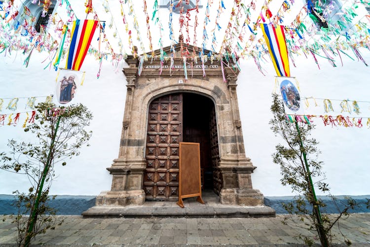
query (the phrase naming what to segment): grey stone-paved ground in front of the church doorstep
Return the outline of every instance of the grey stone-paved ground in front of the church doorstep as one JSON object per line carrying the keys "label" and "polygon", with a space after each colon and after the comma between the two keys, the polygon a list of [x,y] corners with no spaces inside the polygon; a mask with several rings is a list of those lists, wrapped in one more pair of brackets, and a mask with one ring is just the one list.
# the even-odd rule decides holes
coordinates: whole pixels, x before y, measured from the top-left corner
{"label": "grey stone-paved ground in front of the church doorstep", "polygon": [[[83,218],[64,219],[55,230],[38,236],[33,245],[45,246],[186,246],[251,245],[303,246],[295,236],[314,236],[302,229],[304,222],[283,225],[284,215],[276,218]],[[294,218],[297,220],[297,218]],[[370,246],[370,213],[351,214],[341,220],[340,231],[353,246]],[[336,245],[344,246],[338,226]],[[0,221],[0,246],[15,246],[16,228],[9,219]],[[316,239],[316,243],[319,241]]]}

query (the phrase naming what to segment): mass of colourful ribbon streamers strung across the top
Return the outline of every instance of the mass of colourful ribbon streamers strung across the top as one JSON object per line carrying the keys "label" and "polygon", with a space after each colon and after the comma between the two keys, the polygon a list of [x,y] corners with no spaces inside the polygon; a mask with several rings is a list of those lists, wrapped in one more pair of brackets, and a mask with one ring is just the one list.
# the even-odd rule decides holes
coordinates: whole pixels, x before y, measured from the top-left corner
{"label": "mass of colourful ribbon streamers strung across the top", "polygon": [[[21,50],[25,55],[26,59],[24,61],[25,66],[28,66],[30,62],[30,57],[35,51],[45,50],[49,52],[48,59],[50,60],[45,69],[52,65],[51,60],[56,58],[54,66],[59,66],[60,59],[66,58],[66,54],[69,54],[67,50],[69,49],[67,45],[73,41],[73,36],[71,36],[73,28],[68,23],[75,22],[78,20],[75,12],[72,8],[70,1],[68,0],[57,0],[56,8],[58,11],[65,11],[68,16],[68,20],[62,20],[57,12],[53,13],[49,18],[48,29],[41,27],[40,32],[36,32],[34,25],[37,20],[37,16],[33,16],[30,9],[23,4],[22,8],[17,8],[13,4],[13,0],[1,1],[0,2],[0,53],[11,52],[12,50]],[[37,1],[32,1],[31,4],[37,4]],[[271,52],[271,43],[263,39],[266,34],[264,31],[266,28],[274,28],[275,30],[281,29],[281,32],[285,35],[285,42],[287,46],[287,55],[291,59],[293,65],[295,66],[294,56],[303,54],[306,57],[312,57],[313,61],[317,63],[320,69],[318,57],[322,57],[332,65],[337,66],[336,57],[340,60],[343,65],[342,56],[348,56],[350,59],[362,61],[366,66],[368,63],[364,60],[360,52],[360,47],[370,49],[370,15],[359,11],[359,6],[369,7],[369,0],[361,0],[359,2],[344,2],[342,6],[336,6],[333,2],[321,2],[317,1],[315,5],[311,1],[302,6],[302,8],[296,14],[296,18],[291,23],[286,23],[285,15],[292,13],[292,6],[297,4],[291,0],[285,0],[281,4],[280,8],[276,11],[271,11],[269,8],[270,1],[264,1],[261,9],[256,8],[256,0],[252,1],[224,1],[219,0],[219,4],[213,4],[213,1],[208,0],[206,2],[205,11],[202,13],[205,16],[203,25],[198,25],[199,16],[199,0],[195,0],[195,8],[187,8],[185,11],[181,10],[181,16],[179,23],[180,27],[175,26],[173,22],[174,9],[181,6],[184,8],[184,4],[190,4],[189,0],[180,1],[170,1],[170,11],[169,11],[169,41],[171,43],[171,54],[167,56],[163,52],[164,36],[163,32],[165,28],[161,24],[159,18],[160,8],[158,6],[158,1],[155,0],[152,6],[153,14],[152,18],[149,18],[148,10],[150,6],[147,6],[147,1],[143,0],[134,2],[132,0],[123,1],[120,0],[120,12],[125,25],[124,36],[128,37],[128,50],[131,54],[138,55],[137,50],[134,46],[141,48],[145,61],[147,59],[164,59],[173,60],[176,56],[173,50],[174,44],[177,42],[174,37],[175,31],[178,29],[180,33],[183,32],[183,28],[186,30],[186,44],[191,43],[191,37],[189,34],[189,27],[194,27],[194,37],[193,45],[198,45],[197,41],[197,29],[202,28],[203,39],[201,42],[201,50],[198,51],[193,48],[193,52],[190,53],[186,51],[182,56],[186,57],[186,60],[200,59],[204,63],[204,50],[220,50],[219,57],[214,59],[214,53],[209,55],[211,60],[222,60],[224,56],[230,56],[233,54],[234,57],[242,57],[246,59],[253,59],[259,68],[259,71],[263,71],[261,68],[261,62],[265,60],[264,55]],[[81,3],[83,4],[83,3]],[[145,20],[142,21],[142,17],[137,15],[134,11],[139,4],[144,6],[144,17]],[[43,2],[42,15],[46,16],[49,8],[52,6],[51,1],[47,0]],[[117,66],[118,62],[123,58],[127,57],[125,52],[125,44],[122,42],[120,30],[115,26],[114,17],[111,14],[111,9],[109,8],[109,3],[107,0],[103,1],[103,7],[105,11],[111,15],[110,28],[113,30],[112,37],[104,32],[105,22],[100,21],[98,13],[95,11],[92,1],[88,0],[85,2],[87,14],[93,14],[94,23],[98,22],[95,27],[100,29],[99,35],[99,47],[94,48],[89,47],[88,42],[84,42],[87,45],[85,48],[88,54],[94,55],[94,57],[99,61],[100,65],[103,58],[111,58],[112,64]],[[214,7],[216,6],[216,7]],[[215,14],[211,11],[211,8],[217,8]],[[65,10],[64,10],[64,8]],[[364,8],[362,8],[364,9]],[[330,13],[332,11],[332,13]],[[333,15],[335,18],[331,18]],[[259,12],[257,19],[252,20],[252,12]],[[128,13],[128,15],[126,15]],[[337,14],[335,14],[337,13]],[[167,14],[167,13],[166,13]],[[184,17],[185,15],[185,17]],[[229,21],[227,25],[221,25],[221,17],[229,16]],[[130,16],[133,21],[128,21],[127,17]],[[87,16],[86,16],[87,17]],[[214,18],[215,25],[208,25],[212,23]],[[86,18],[87,19],[87,18]],[[194,19],[194,22],[191,22]],[[244,21],[243,21],[244,20]],[[82,21],[82,19],[81,19]],[[270,22],[267,24],[266,22]],[[142,25],[143,24],[143,25]],[[114,25],[114,27],[113,27]],[[319,27],[321,25],[321,27]],[[212,26],[212,27],[210,27]],[[146,32],[142,32],[145,28]],[[151,30],[153,28],[158,29],[159,36],[153,36],[156,30]],[[177,29],[178,28],[178,29]],[[261,28],[261,29],[259,29]],[[93,28],[95,30],[95,28]],[[137,42],[133,41],[132,31],[136,31]],[[53,32],[54,31],[54,32]],[[223,39],[220,39],[220,34],[224,31]],[[60,40],[56,39],[55,33]],[[146,33],[146,37],[142,37],[141,33]],[[262,37],[261,34],[262,33]],[[94,32],[91,32],[91,38]],[[216,35],[218,34],[218,35]],[[212,35],[212,37],[211,37]],[[249,38],[244,38],[245,35],[249,35]],[[54,37],[54,38],[53,38]],[[90,38],[90,37],[89,37]],[[212,38],[212,42],[208,42]],[[111,39],[117,40],[119,52],[115,52],[111,45]],[[155,39],[161,49],[161,54],[155,56],[153,53],[153,46],[155,44]],[[83,39],[82,39],[83,40]],[[106,44],[106,51],[101,50],[101,43]],[[149,46],[149,50],[146,50],[146,44]],[[244,45],[243,45],[244,44]],[[217,47],[219,46],[219,48]],[[78,45],[77,45],[78,47]],[[123,50],[123,52],[122,52]],[[149,51],[149,54],[146,52]],[[285,52],[285,48],[280,47],[280,52]],[[84,54],[84,52],[82,52]],[[275,54],[276,55],[276,54]],[[282,54],[281,54],[282,55]],[[82,55],[83,57],[84,55]],[[278,58],[277,58],[278,59]],[[286,58],[285,58],[286,59]],[[83,59],[82,59],[83,61]],[[80,65],[82,63],[80,62]],[[101,67],[101,66],[100,66]],[[98,72],[98,77],[100,75],[100,69]]]}

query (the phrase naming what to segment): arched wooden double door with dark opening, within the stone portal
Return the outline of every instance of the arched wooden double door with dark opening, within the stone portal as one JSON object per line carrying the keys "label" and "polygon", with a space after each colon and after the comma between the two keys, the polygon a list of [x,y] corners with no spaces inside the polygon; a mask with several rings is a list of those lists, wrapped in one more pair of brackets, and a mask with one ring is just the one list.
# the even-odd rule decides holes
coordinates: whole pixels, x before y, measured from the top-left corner
{"label": "arched wooden double door with dark opening, within the stone portal", "polygon": [[[201,139],[186,135],[199,129],[206,133]],[[211,187],[215,187],[218,141],[214,104],[201,95],[173,93],[154,99],[148,109],[147,167],[143,184],[147,200],[178,200],[179,146],[182,141],[200,143],[201,153],[205,153],[201,157],[201,167],[207,168],[214,177]]]}

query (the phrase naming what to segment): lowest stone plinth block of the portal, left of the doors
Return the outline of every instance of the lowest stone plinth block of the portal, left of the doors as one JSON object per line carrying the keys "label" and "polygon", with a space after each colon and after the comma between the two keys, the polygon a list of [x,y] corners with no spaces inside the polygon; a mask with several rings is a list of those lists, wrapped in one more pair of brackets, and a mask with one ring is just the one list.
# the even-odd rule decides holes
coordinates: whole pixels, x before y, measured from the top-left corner
{"label": "lowest stone plinth block of the portal, left of the doors", "polygon": [[143,205],[144,190],[102,191],[96,198],[96,206]]}

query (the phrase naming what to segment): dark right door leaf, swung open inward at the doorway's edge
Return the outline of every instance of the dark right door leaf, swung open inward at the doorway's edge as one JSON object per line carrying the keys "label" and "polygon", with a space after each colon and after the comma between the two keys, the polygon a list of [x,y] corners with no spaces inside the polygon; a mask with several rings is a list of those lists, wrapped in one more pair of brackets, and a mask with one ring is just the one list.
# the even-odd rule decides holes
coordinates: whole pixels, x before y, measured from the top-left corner
{"label": "dark right door leaf, swung open inward at the doorway's edge", "polygon": [[213,168],[213,190],[219,194],[222,189],[222,174],[218,169],[220,161],[219,138],[217,134],[217,120],[215,107],[211,110],[210,115],[210,140],[211,140],[211,160]]}

